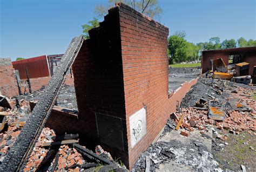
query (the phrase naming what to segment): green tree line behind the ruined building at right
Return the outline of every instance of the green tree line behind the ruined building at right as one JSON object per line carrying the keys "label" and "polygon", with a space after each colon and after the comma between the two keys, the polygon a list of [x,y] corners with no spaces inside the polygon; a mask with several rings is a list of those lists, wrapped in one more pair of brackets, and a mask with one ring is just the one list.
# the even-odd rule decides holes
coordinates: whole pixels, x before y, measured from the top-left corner
{"label": "green tree line behind the ruined building at right", "polygon": [[175,32],[168,38],[169,64],[194,61],[201,59],[201,52],[204,50],[231,49],[236,47],[256,46],[256,40],[245,38],[225,39],[220,42],[219,37],[212,37],[205,43],[190,43],[186,40],[184,31]]}

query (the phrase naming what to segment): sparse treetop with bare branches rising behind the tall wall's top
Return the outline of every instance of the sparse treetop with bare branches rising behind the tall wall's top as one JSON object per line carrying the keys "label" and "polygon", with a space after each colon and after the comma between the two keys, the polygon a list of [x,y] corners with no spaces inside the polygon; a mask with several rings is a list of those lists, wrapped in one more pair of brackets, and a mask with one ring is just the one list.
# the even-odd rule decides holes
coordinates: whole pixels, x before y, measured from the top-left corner
{"label": "sparse treetop with bare branches rising behind the tall wall's top", "polygon": [[109,0],[106,5],[99,4],[95,7],[95,15],[92,20],[87,22],[87,24],[82,25],[83,33],[85,38],[89,38],[88,31],[94,27],[99,26],[98,18],[102,18],[107,14],[107,10],[109,10],[114,3],[122,2],[126,5],[131,6],[133,9],[149,16],[151,18],[156,19],[162,13],[162,10],[158,4],[158,0]]}

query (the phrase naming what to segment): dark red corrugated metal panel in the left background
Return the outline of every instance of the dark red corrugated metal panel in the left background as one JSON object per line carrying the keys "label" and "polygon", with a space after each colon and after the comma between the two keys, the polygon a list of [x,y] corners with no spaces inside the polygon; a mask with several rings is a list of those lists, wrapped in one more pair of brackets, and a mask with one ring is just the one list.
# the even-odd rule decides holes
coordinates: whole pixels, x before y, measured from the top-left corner
{"label": "dark red corrugated metal panel in the left background", "polygon": [[39,56],[24,60],[12,61],[15,70],[19,71],[21,79],[26,79],[26,67],[28,67],[30,78],[40,78],[49,76],[47,57]]}

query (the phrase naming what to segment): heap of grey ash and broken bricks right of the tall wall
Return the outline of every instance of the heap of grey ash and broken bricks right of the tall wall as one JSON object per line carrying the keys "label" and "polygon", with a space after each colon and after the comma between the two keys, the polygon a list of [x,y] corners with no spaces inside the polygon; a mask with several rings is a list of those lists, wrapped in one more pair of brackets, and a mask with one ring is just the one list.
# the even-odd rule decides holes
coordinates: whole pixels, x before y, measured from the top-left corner
{"label": "heap of grey ash and broken bricks right of the tall wall", "polygon": [[[181,114],[185,113],[184,121],[180,127],[188,131],[193,131],[192,127],[207,130],[207,125],[214,125],[218,129],[230,130],[231,133],[238,134],[245,130],[256,132],[256,101],[252,98],[253,91],[253,87],[244,84],[200,78],[181,102],[181,106],[184,108],[176,113],[177,119],[174,121],[177,124]],[[200,94],[199,92],[203,93]],[[210,102],[214,107],[223,107],[225,119],[222,121],[209,118],[208,108],[210,105],[207,105],[205,111],[194,107],[200,97]]]}

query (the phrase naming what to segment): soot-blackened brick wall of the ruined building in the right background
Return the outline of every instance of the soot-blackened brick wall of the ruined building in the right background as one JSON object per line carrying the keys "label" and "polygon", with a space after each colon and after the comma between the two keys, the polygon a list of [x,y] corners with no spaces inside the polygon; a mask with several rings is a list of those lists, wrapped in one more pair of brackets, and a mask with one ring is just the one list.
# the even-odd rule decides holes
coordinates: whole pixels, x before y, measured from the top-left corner
{"label": "soot-blackened brick wall of the ruined building in the right background", "polygon": [[208,50],[203,51],[202,72],[205,73],[212,69],[211,60],[222,58],[228,65],[228,58],[231,55],[241,55],[240,62],[250,63],[249,74],[253,74],[253,66],[256,66],[256,47],[241,47],[236,49]]}

